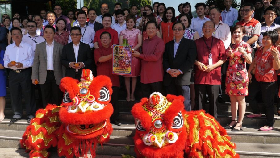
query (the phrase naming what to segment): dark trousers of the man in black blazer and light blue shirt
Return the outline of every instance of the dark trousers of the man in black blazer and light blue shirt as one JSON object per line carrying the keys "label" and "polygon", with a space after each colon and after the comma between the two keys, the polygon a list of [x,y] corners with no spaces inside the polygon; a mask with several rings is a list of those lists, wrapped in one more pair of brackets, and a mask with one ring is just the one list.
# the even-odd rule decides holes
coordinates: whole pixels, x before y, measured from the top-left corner
{"label": "dark trousers of the man in black blazer and light blue shirt", "polygon": [[[172,83],[174,83],[172,81]],[[170,84],[169,86],[165,86],[167,94],[173,95],[182,95],[184,96],[184,107],[186,111],[190,111],[190,85],[175,85]]]}

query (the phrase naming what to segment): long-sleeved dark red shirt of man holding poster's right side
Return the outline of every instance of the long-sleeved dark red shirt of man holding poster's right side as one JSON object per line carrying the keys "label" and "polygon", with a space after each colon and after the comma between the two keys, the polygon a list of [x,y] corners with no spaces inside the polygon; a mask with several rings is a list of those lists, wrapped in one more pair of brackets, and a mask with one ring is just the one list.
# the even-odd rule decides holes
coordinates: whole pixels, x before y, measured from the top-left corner
{"label": "long-sleeved dark red shirt of man holding poster's right side", "polygon": [[161,38],[155,35],[143,42],[143,54],[140,54],[141,61],[141,83],[154,83],[163,80],[162,55],[165,46]]}

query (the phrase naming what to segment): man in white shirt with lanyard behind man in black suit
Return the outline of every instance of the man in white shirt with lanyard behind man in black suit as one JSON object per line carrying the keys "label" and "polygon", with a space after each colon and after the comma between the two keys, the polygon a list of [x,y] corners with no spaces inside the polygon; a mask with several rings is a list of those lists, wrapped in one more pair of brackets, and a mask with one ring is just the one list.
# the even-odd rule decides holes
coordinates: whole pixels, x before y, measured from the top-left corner
{"label": "man in white shirt with lanyard behind man in black suit", "polygon": [[[83,10],[80,10],[77,13],[77,19],[79,22],[79,25],[77,25],[77,27],[81,28],[82,31],[82,38],[81,38],[81,42],[90,45],[90,48],[94,47],[94,35],[95,35],[95,31],[92,27],[89,27],[86,25],[86,12]],[[72,42],[71,39],[71,35],[69,35],[69,40],[68,43]]]}

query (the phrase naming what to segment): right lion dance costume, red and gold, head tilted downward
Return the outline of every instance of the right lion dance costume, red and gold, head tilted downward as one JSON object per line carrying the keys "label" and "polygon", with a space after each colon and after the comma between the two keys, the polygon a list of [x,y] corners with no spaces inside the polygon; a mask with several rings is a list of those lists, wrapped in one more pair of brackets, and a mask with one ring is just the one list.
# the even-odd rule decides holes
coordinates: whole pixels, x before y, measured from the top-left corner
{"label": "right lion dance costume, red and gold, head tilted downward", "polygon": [[238,158],[226,130],[203,110],[184,110],[184,97],[158,92],[132,107],[137,158]]}

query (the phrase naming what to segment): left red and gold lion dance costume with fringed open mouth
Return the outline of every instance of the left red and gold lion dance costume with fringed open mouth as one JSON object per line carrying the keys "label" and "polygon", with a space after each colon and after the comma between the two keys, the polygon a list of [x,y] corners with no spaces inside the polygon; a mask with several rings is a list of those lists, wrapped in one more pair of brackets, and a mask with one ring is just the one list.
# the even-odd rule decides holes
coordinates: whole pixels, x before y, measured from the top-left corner
{"label": "left red and gold lion dance costume with fringed open mouth", "polygon": [[30,151],[31,158],[48,157],[51,146],[57,146],[59,156],[87,157],[90,150],[95,157],[96,144],[108,141],[113,131],[110,78],[93,78],[89,69],[83,69],[81,82],[64,77],[60,89],[64,92],[62,104],[39,109],[20,144]]}

